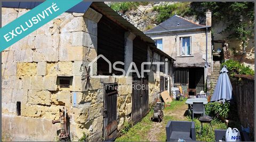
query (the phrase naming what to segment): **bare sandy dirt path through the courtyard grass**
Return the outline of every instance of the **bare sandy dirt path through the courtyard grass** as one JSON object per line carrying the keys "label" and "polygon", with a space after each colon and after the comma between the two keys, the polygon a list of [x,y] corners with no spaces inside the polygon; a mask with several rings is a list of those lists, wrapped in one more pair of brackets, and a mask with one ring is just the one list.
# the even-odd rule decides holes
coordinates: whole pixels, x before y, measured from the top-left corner
{"label": "bare sandy dirt path through the courtyard grass", "polygon": [[[183,103],[173,110],[166,109],[164,110],[164,116],[171,116],[175,120],[187,120],[184,116],[185,112],[188,109],[188,105]],[[159,135],[165,135],[165,125],[167,121],[161,123],[153,122],[153,127],[148,131],[148,140],[149,141],[162,141],[159,140]]]}

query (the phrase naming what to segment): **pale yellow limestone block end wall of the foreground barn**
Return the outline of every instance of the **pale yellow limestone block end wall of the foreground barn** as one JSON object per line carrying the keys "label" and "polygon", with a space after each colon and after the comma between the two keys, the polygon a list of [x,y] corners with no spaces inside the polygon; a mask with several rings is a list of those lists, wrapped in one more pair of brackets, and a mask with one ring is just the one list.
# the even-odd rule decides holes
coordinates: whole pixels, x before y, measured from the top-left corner
{"label": "pale yellow limestone block end wall of the foreground barn", "polygon": [[[27,11],[3,7],[2,24]],[[85,14],[63,13],[2,52],[2,130],[7,140],[56,140],[60,126],[51,120],[59,119],[63,106],[70,117],[71,140],[81,138],[83,131],[90,140],[101,140],[100,79],[91,80],[91,90],[84,87],[84,66],[97,57],[100,17],[92,9]],[[70,86],[61,87],[59,77],[71,78]]]}

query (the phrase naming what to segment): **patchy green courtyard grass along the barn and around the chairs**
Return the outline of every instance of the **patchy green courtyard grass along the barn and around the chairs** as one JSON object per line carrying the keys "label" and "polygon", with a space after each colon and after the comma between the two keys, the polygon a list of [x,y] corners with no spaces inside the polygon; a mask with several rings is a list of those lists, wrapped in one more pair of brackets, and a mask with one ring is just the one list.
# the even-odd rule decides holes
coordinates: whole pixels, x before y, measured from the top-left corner
{"label": "patchy green courtyard grass along the barn and around the chairs", "polygon": [[[183,115],[183,111],[178,111],[180,108],[182,110],[187,107],[187,104],[185,103],[187,99],[184,99],[183,101],[172,101],[170,106],[164,108],[164,118],[161,122],[162,128],[160,132],[156,136],[156,141],[166,141],[166,132],[165,132],[165,126],[168,121],[192,121],[190,116],[179,118],[178,115],[172,115],[173,113],[177,114],[180,113],[180,115]],[[232,110],[232,109],[231,109]],[[234,112],[233,112],[234,113]],[[143,118],[140,122],[138,122],[136,125],[132,126],[130,129],[125,130],[123,135],[121,137],[118,137],[116,141],[149,141],[148,140],[148,134],[149,131],[153,128],[153,122],[150,121],[150,118],[153,116],[153,110],[150,110],[150,112],[147,114],[145,118]],[[198,120],[199,117],[194,118],[193,121],[195,121],[196,126],[196,140],[197,141],[214,141],[214,129],[227,129],[226,123],[214,118],[211,122],[212,124],[212,130],[210,129],[209,123],[203,123],[203,131],[201,132],[201,136],[199,136],[200,128],[201,128],[201,122]],[[234,121],[234,123],[229,123],[228,127],[231,128],[239,128],[239,123],[237,121]],[[152,130],[151,130],[152,131]]]}

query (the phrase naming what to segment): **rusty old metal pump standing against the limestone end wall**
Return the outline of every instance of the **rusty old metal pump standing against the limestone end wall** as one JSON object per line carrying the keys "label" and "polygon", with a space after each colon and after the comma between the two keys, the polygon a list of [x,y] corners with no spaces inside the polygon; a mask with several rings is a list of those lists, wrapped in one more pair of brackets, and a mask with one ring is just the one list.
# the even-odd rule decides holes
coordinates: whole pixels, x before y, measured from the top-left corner
{"label": "rusty old metal pump standing against the limestone end wall", "polygon": [[52,120],[52,124],[60,123],[60,134],[59,134],[60,141],[68,141],[69,139],[69,131],[67,126],[68,120],[69,120],[69,117],[67,115],[67,110],[65,107],[63,107],[63,110],[60,109],[60,119]]}

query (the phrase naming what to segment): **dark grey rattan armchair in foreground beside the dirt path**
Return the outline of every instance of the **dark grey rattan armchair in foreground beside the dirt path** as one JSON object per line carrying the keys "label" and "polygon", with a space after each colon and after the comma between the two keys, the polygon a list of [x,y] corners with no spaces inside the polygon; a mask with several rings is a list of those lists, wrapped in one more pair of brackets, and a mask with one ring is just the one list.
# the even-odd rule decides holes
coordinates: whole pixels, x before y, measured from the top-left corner
{"label": "dark grey rattan armchair in foreground beside the dirt path", "polygon": [[196,140],[194,121],[169,121],[165,129],[167,141],[174,141],[179,138],[184,140]]}

